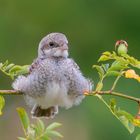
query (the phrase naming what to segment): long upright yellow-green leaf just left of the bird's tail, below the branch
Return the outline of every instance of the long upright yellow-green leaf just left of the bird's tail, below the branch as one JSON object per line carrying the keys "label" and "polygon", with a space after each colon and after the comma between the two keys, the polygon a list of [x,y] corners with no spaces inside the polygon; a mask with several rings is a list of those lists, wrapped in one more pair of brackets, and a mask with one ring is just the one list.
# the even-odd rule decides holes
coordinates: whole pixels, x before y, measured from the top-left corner
{"label": "long upright yellow-green leaf just left of the bird's tail, below the branch", "polygon": [[28,118],[28,115],[27,115],[25,109],[21,108],[21,107],[17,108],[17,112],[18,112],[18,115],[20,117],[20,120],[21,120],[21,123],[22,123],[22,126],[23,126],[23,130],[26,133],[27,129],[30,126],[30,120]]}

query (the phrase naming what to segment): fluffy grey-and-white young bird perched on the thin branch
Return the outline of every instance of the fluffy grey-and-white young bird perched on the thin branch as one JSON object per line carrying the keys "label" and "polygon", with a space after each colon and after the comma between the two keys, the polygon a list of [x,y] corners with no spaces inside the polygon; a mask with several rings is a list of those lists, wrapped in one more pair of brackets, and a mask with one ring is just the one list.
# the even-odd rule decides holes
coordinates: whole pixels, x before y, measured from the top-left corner
{"label": "fluffy grey-and-white young bird perched on the thin branch", "polygon": [[13,82],[15,90],[24,93],[27,104],[33,107],[33,117],[53,118],[58,107],[78,105],[84,92],[92,90],[73,59],[68,58],[68,40],[62,33],[50,33],[39,43],[38,57],[27,76]]}

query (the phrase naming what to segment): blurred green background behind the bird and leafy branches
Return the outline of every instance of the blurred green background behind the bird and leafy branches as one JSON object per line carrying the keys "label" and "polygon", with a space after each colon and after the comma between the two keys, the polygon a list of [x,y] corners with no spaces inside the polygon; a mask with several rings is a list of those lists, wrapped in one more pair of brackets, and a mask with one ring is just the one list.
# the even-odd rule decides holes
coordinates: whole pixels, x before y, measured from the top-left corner
{"label": "blurred green background behind the bird and leafy branches", "polygon": [[[97,72],[91,67],[103,51],[114,49],[118,39],[129,44],[129,53],[140,59],[139,0],[0,0],[0,61],[31,64],[37,56],[38,43],[50,32],[62,32],[69,39],[70,57],[74,58],[85,76],[95,84]],[[112,78],[106,83],[111,86]],[[0,73],[0,89],[10,89],[11,80]],[[124,80],[118,90],[140,97],[137,81]],[[24,106],[22,96],[5,96],[6,107],[0,117],[0,140],[22,136],[16,107]],[[137,106],[117,98],[121,108],[136,114]],[[87,97],[80,106],[61,109],[53,120],[61,122],[65,140],[134,140],[96,97]]]}

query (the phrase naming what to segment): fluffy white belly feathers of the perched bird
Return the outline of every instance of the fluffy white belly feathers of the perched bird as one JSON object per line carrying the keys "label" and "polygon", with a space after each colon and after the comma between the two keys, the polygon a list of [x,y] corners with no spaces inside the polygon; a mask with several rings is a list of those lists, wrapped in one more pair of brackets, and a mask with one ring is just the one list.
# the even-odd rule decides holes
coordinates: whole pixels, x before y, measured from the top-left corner
{"label": "fluffy white belly feathers of the perched bird", "polygon": [[37,103],[41,105],[42,108],[59,105],[65,108],[72,107],[74,100],[67,95],[67,88],[64,84],[58,84],[52,82],[48,88],[45,97],[39,97],[36,99]]}

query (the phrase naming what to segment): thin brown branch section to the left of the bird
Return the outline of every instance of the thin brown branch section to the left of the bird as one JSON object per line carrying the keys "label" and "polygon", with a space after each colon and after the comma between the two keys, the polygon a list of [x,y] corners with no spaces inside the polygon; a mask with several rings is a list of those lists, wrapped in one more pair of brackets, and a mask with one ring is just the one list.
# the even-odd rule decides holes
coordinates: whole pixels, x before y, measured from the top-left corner
{"label": "thin brown branch section to the left of the bird", "polygon": [[20,91],[17,90],[0,90],[2,95],[23,95]]}

